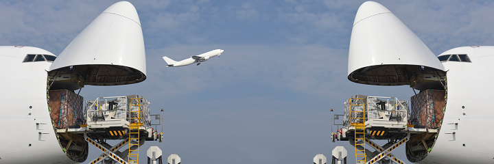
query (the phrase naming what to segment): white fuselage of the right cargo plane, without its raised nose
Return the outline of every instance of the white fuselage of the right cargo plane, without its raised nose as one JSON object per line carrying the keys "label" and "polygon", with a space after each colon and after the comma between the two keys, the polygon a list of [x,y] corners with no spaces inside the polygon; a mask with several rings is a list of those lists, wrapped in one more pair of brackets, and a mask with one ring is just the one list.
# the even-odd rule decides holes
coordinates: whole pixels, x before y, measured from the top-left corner
{"label": "white fuselage of the right cargo plane, without its raised nose", "polygon": [[464,46],[441,54],[467,54],[471,63],[443,62],[447,70],[443,124],[434,148],[419,163],[494,163],[493,52],[494,46]]}

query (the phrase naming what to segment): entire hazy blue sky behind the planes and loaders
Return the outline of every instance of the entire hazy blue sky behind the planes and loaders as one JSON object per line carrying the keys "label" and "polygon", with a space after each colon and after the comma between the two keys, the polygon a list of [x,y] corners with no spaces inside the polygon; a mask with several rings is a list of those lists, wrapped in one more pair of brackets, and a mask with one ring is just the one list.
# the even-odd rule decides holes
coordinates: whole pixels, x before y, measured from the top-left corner
{"label": "entire hazy blue sky behind the planes and loaders", "polygon": [[[36,46],[58,55],[117,1],[0,1],[0,44]],[[346,79],[353,19],[364,1],[130,1],[143,28],[148,79],[86,86],[85,100],[139,94],[152,113],[164,109],[163,156],[184,163],[311,163],[331,157],[331,112],[355,94],[410,100],[408,86]],[[458,46],[493,45],[493,1],[378,1],[436,55]],[[220,58],[166,68],[213,49]],[[147,150],[145,147],[144,150]],[[88,160],[99,151],[92,148]],[[404,149],[395,150],[406,159]],[[141,154],[144,156],[143,154]],[[145,159],[141,159],[145,160]]]}

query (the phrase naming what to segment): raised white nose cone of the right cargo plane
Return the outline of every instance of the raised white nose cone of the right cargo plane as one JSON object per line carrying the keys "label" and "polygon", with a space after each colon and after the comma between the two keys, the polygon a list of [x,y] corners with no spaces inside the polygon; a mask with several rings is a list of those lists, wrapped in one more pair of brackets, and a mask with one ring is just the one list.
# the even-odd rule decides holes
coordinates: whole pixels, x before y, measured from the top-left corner
{"label": "raised white nose cone of the right cargo plane", "polygon": [[443,64],[395,14],[373,1],[360,6],[350,40],[350,81],[408,85],[417,72],[435,70],[444,71]]}

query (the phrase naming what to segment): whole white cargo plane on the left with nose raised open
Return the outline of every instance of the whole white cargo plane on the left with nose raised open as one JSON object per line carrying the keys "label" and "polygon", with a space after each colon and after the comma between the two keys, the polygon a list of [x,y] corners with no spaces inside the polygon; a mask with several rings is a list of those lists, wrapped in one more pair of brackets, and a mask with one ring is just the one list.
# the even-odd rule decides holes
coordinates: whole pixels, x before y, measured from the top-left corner
{"label": "whole white cargo plane on the left with nose raised open", "polygon": [[32,46],[0,46],[0,66],[9,70],[0,77],[0,163],[86,161],[89,143],[59,131],[67,127],[54,123],[62,115],[51,113],[56,100],[49,93],[140,83],[146,79],[144,50],[139,16],[127,1],[104,10],[58,56]]}

